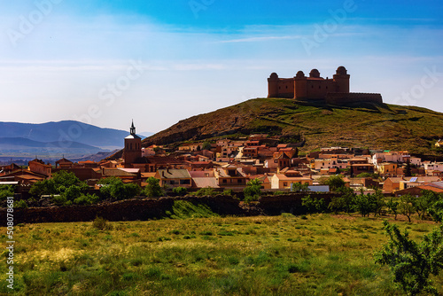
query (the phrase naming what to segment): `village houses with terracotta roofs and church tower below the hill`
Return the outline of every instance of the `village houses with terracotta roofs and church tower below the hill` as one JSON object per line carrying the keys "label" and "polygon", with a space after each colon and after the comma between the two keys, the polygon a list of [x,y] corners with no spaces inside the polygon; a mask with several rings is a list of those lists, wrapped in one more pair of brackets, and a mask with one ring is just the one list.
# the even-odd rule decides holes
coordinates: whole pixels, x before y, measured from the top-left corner
{"label": "village houses with terracotta roofs and church tower below the hill", "polygon": [[78,161],[62,158],[55,166],[31,160],[27,167],[0,167],[0,184],[29,187],[51,178],[60,170],[73,172],[90,186],[102,178],[118,177],[124,183],[144,187],[149,177],[166,188],[205,187],[243,190],[259,179],[265,190],[289,191],[294,183],[307,184],[312,191],[328,191],[322,181],[330,175],[344,175],[346,186],[355,191],[376,189],[386,194],[416,193],[423,189],[443,192],[443,162],[422,161],[408,152],[369,151],[329,147],[300,156],[296,144],[281,144],[268,135],[241,139],[220,139],[215,143],[152,145],[142,148],[134,125],[125,138],[119,160]]}

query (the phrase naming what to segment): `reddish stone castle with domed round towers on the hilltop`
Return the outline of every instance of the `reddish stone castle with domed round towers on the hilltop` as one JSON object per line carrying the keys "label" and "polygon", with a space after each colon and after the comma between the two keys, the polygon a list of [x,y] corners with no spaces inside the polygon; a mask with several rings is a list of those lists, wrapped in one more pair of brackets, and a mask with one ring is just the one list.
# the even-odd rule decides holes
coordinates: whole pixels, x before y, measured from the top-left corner
{"label": "reddish stone castle with domed round towers on the hilltop", "polygon": [[293,78],[279,78],[273,73],[268,78],[268,97],[286,97],[299,101],[324,101],[329,105],[372,102],[383,104],[380,94],[349,92],[349,78],[344,66],[339,66],[332,79],[320,77],[312,69],[309,77],[299,71]]}

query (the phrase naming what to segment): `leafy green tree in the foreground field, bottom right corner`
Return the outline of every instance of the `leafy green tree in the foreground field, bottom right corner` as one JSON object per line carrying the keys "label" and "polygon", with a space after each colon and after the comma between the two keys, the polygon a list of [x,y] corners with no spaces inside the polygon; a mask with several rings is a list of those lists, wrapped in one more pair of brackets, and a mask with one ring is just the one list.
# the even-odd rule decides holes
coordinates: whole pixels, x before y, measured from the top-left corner
{"label": "leafy green tree in the foreground field, bottom right corner", "polygon": [[397,225],[383,222],[390,238],[376,254],[376,263],[388,265],[393,273],[393,282],[404,292],[417,295],[428,292],[438,295],[429,276],[439,275],[443,269],[443,225],[424,236],[421,244],[408,238],[408,232],[400,233]]}

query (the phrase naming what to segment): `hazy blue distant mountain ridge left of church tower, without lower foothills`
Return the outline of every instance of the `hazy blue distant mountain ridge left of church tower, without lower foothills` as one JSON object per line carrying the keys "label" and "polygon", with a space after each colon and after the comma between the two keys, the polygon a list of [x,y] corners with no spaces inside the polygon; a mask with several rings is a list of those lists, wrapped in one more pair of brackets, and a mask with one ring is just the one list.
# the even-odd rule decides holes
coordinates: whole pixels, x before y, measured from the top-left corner
{"label": "hazy blue distant mountain ridge left of church tower, without lower foothills", "polygon": [[[102,129],[80,121],[51,121],[39,124],[0,121],[0,137],[25,138],[30,141],[52,143],[61,148],[74,148],[76,143],[101,148],[122,147],[125,136],[128,136],[128,131]],[[25,143],[23,140],[19,141]]]}

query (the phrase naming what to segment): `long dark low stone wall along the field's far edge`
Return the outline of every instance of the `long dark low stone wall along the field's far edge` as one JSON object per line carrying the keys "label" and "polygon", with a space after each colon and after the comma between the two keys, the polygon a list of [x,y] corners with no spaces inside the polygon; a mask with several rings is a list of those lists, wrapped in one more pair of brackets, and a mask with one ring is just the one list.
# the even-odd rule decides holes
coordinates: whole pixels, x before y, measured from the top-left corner
{"label": "long dark low stone wall along the field's far edge", "polygon": [[[113,203],[94,206],[41,206],[14,209],[14,222],[43,223],[43,222],[88,222],[97,216],[108,221],[136,221],[161,219],[167,217],[167,211],[172,211],[175,200],[187,200],[193,204],[209,206],[216,214],[221,215],[253,215],[263,214],[304,214],[301,199],[306,194],[288,193],[278,196],[263,196],[258,204],[253,204],[255,210],[248,205],[241,205],[238,199],[229,196],[215,197],[182,197],[160,199],[126,199]],[[310,193],[315,199],[325,199],[329,204],[334,193]],[[258,209],[258,211],[257,211]],[[0,208],[0,216],[6,216],[6,208]],[[6,222],[6,219],[3,220]]]}

